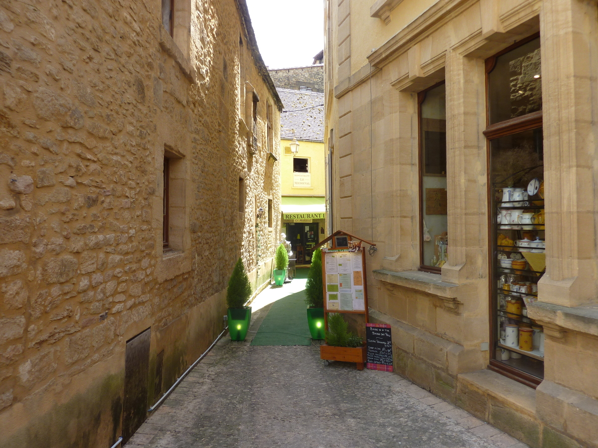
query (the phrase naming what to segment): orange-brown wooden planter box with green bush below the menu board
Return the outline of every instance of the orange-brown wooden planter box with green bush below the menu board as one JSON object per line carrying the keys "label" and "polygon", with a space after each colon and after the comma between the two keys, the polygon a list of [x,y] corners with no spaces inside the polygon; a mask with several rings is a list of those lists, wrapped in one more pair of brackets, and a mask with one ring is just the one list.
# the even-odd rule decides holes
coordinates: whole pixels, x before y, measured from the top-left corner
{"label": "orange-brown wooden planter box with green bush below the menu board", "polygon": [[328,361],[357,363],[357,370],[363,370],[367,359],[365,344],[361,337],[349,332],[349,324],[340,313],[328,315],[326,343],[320,346],[320,358]]}

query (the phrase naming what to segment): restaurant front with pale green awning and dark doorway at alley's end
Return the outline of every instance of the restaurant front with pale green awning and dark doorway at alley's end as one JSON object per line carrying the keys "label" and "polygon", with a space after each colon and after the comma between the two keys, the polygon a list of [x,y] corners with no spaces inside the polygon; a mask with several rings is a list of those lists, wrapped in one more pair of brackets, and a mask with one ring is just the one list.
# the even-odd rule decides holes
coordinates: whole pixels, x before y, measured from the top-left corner
{"label": "restaurant front with pale green awning and dark doorway at alley's end", "polygon": [[291,243],[295,264],[309,265],[313,247],[325,237],[325,198],[314,196],[283,196],[282,231]]}

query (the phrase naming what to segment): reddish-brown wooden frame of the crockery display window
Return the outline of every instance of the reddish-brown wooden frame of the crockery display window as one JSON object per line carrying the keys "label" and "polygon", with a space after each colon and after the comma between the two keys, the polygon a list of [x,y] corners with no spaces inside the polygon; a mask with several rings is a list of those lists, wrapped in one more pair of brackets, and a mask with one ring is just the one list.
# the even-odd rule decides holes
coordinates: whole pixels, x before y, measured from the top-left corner
{"label": "reddish-brown wooden frame of the crockery display window", "polygon": [[[482,131],[484,136],[486,137],[486,172],[488,176],[487,182],[487,203],[488,203],[488,216],[489,219],[493,219],[495,217],[494,210],[492,210],[492,182],[490,179],[490,164],[492,163],[492,148],[491,142],[492,140],[498,139],[499,137],[510,136],[513,134],[518,134],[523,131],[529,131],[533,129],[542,128],[542,111],[527,113],[526,115],[517,116],[515,118],[511,118],[505,121],[500,121],[498,123],[490,124],[490,72],[496,67],[496,60],[499,56],[502,56],[508,53],[515,48],[521,47],[521,45],[527,44],[527,42],[531,42],[534,39],[539,38],[540,33],[534,33],[527,38],[521,39],[515,44],[509,45],[509,47],[505,48],[499,53],[496,53],[494,56],[489,57],[485,61],[485,77],[486,77],[486,129]],[[493,241],[496,238],[496,235],[493,235],[492,232],[492,223],[489,222],[488,226],[488,253],[490,256],[488,257],[489,263],[489,297],[490,297],[490,312],[489,312],[489,320],[490,320],[490,346],[492,350],[495,350],[497,346],[497,330],[498,330],[498,323],[496,321],[496,297],[495,297],[495,284],[493,282],[493,253],[492,253],[492,245]],[[543,381],[536,376],[530,375],[529,373],[523,372],[521,370],[515,369],[514,367],[509,366],[508,364],[501,363],[501,361],[495,360],[493,354],[490,354],[490,362],[488,368],[493,372],[500,373],[501,375],[507,376],[507,378],[511,378],[514,381],[520,382],[526,386],[529,386],[533,389],[538,387],[538,385]]]}

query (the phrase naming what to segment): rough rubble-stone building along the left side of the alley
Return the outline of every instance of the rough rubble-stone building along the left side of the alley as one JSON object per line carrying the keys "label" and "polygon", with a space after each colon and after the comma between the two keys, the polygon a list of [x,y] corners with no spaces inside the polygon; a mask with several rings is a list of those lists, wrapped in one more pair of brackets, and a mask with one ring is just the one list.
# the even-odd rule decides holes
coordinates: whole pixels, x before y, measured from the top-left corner
{"label": "rough rubble-stone building along the left side of the alley", "polygon": [[282,103],[244,0],[3,1],[0,103],[0,446],[111,446],[269,281]]}

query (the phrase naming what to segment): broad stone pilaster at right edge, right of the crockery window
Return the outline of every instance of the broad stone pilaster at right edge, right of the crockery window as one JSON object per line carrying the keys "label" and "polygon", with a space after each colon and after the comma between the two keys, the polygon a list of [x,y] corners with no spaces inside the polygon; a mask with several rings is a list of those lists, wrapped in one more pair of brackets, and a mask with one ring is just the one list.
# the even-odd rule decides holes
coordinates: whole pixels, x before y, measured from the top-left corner
{"label": "broad stone pilaster at right edge, right of the crockery window", "polygon": [[598,302],[596,2],[545,0],[540,14],[547,271],[539,299]]}

